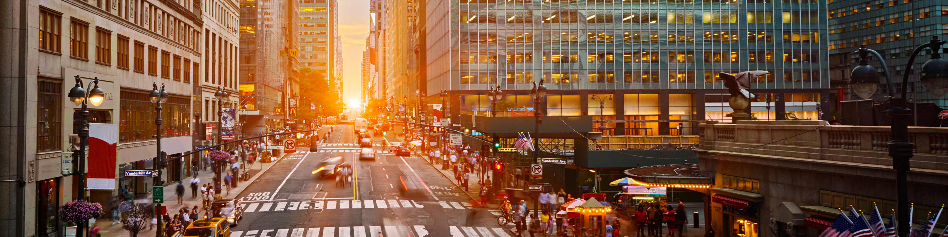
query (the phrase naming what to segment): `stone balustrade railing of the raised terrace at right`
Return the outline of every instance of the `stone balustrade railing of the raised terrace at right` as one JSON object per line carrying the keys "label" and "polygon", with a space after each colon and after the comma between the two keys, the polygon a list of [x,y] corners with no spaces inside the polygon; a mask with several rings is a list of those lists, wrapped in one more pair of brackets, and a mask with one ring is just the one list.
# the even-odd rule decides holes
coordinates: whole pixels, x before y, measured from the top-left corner
{"label": "stone balustrade railing of the raised terrace at right", "polygon": [[[702,123],[699,149],[891,166],[887,126],[827,125],[822,120]],[[908,127],[910,166],[948,171],[948,127]]]}

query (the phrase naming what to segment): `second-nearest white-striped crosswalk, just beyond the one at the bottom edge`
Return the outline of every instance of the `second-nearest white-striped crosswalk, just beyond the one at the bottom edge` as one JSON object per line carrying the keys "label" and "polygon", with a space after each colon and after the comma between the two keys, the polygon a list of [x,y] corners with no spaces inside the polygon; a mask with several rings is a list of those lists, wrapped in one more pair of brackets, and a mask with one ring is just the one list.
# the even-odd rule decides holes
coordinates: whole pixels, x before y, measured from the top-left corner
{"label": "second-nearest white-striped crosswalk, just beyond the one at the bottom edge", "polygon": [[[469,203],[463,202],[431,202],[444,209],[473,209]],[[267,212],[283,210],[331,210],[331,209],[390,209],[415,208],[424,209],[425,205],[414,200],[405,199],[377,199],[377,200],[332,200],[332,201],[296,201],[296,202],[264,202],[244,203],[241,208],[244,212]]]}

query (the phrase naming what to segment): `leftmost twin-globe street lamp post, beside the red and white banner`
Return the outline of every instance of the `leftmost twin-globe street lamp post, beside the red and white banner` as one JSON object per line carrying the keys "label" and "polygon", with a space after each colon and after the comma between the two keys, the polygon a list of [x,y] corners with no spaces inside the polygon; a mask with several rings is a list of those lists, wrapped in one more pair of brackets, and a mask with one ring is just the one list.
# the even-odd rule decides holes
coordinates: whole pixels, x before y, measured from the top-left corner
{"label": "leftmost twin-globe street lamp post, beside the red and white banner", "polygon": [[[73,166],[74,169],[78,169],[79,200],[85,200],[85,147],[89,145],[89,122],[86,121],[86,117],[89,116],[87,102],[92,102],[92,106],[99,106],[102,100],[105,100],[105,93],[99,88],[99,78],[92,79],[86,87],[91,87],[93,84],[95,87],[86,93],[82,89],[82,77],[76,76],[76,85],[69,90],[69,100],[72,104],[82,106],[80,110],[72,113],[73,132],[79,136],[79,150],[75,152],[75,157],[79,159],[79,162],[77,162],[78,167]],[[84,232],[82,228],[86,226],[85,221],[76,225],[80,227],[80,231],[76,231],[76,236],[82,237],[82,232]]]}

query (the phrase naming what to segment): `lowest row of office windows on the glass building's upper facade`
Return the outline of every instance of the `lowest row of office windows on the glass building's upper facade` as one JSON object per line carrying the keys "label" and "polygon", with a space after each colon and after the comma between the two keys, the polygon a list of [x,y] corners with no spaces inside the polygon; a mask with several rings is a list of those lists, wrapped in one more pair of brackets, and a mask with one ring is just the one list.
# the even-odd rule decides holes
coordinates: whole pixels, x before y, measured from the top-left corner
{"label": "lowest row of office windows on the glass building's upper facade", "polygon": [[[763,69],[767,70],[767,69]],[[774,71],[771,69],[770,71]],[[582,73],[582,75],[580,74]],[[733,72],[732,74],[737,74]],[[663,78],[663,74],[666,75]],[[503,82],[499,82],[500,75]],[[542,72],[542,79],[551,83],[578,83],[586,80],[589,83],[658,83],[658,82],[696,82],[697,76],[702,76],[700,82],[721,82],[718,71],[695,71],[684,69],[665,70],[560,70]],[[773,73],[760,76],[754,82],[775,82]],[[460,72],[460,82],[464,84],[496,84],[496,83],[529,83],[535,82],[533,71],[509,70],[496,71],[466,71]],[[820,82],[819,69],[784,70],[783,82]]]}

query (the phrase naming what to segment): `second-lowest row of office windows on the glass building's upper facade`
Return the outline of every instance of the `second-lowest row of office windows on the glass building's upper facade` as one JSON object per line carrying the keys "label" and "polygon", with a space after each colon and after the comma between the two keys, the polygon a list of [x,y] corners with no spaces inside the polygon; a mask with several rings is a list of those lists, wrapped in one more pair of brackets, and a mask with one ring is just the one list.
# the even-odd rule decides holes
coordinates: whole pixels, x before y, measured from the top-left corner
{"label": "second-lowest row of office windows on the glass building's upper facade", "polygon": [[[747,51],[746,56],[736,50],[718,50],[703,51],[704,63],[774,63],[775,54],[773,50]],[[695,51],[667,51],[663,56],[660,51],[633,51],[624,53],[599,52],[583,55],[577,52],[543,52],[541,63],[543,64],[576,64],[585,61],[586,63],[695,63]],[[500,55],[505,58],[506,64],[533,64],[533,53],[517,53],[509,55]],[[746,60],[740,60],[741,57]],[[662,60],[664,59],[664,60]],[[783,62],[785,63],[819,63],[819,50],[783,50]],[[777,59],[778,60],[778,59]],[[472,53],[462,52],[460,56],[461,64],[497,64],[498,55],[495,53]]]}

